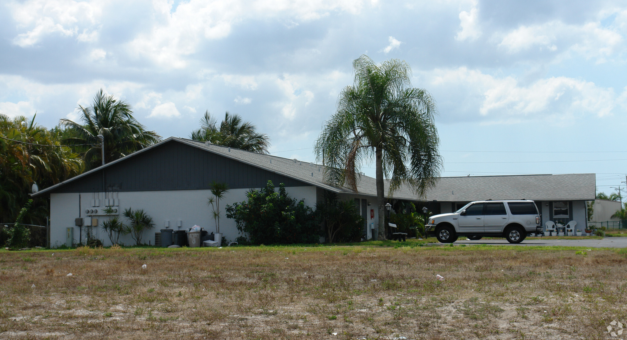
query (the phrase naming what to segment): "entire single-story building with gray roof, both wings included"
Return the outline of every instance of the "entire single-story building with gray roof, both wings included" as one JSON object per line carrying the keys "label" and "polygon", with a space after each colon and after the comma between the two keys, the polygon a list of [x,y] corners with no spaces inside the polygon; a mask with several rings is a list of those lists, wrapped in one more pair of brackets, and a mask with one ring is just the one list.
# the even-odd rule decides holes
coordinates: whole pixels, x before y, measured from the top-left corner
{"label": "entire single-story building with gray roof, both wings included", "polygon": [[[371,238],[372,228],[378,228],[374,178],[359,174],[354,192],[325,184],[322,170],[320,164],[297,159],[170,137],[38,191],[33,197],[50,196],[51,247],[85,242],[87,233],[110,245],[102,222],[121,215],[125,208],[143,209],[153,218],[155,229],[145,231],[144,242],[154,244],[155,231],[163,228],[187,230],[199,225],[214,231],[215,222],[207,204],[209,186],[214,181],[229,187],[221,199],[220,219],[220,231],[227,240],[241,235],[235,221],[226,218],[224,207],[245,201],[246,192],[265,187],[268,180],[276,186],[285,184],[292,198],[303,199],[312,208],[325,190],[337,193],[340,199],[354,199],[365,220],[364,235]],[[594,193],[594,174],[477,176],[440,178],[426,194],[426,201],[407,188],[389,198],[423,201],[417,205],[418,210],[428,205],[433,213],[454,211],[480,199],[537,199],[543,221],[576,220],[579,227],[586,222],[584,201],[594,199]],[[77,226],[77,220],[83,221],[83,226]],[[120,242],[134,243],[129,235],[122,236]]]}

